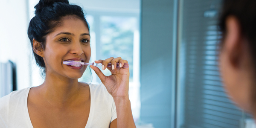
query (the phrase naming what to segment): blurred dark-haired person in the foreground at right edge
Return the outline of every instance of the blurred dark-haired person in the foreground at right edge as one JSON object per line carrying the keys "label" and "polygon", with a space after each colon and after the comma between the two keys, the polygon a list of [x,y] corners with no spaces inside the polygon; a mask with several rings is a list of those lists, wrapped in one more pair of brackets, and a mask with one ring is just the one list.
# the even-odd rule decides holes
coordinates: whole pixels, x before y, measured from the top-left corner
{"label": "blurred dark-haired person in the foreground at right edge", "polygon": [[256,0],[224,0],[220,70],[228,94],[256,118]]}

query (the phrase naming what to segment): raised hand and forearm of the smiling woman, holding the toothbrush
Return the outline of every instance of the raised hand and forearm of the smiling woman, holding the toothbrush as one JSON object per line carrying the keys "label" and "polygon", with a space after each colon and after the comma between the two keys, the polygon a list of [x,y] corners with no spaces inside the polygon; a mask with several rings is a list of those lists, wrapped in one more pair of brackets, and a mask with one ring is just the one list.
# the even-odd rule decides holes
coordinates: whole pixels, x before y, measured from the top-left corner
{"label": "raised hand and forearm of the smiling woman, holding the toothbrush", "polygon": [[[126,60],[118,58],[108,58],[106,60],[95,61],[96,63],[102,63],[102,70],[108,68],[111,71],[111,76],[105,76],[98,67],[90,65],[90,67],[99,76],[99,79],[105,85],[114,99],[116,105],[116,115],[118,120],[111,122],[111,128],[136,128],[134,119],[131,113],[131,102],[128,96],[129,90],[129,68],[123,67],[124,63],[128,63]],[[108,63],[111,63],[112,67],[107,67]],[[116,63],[119,63],[119,67],[116,67]]]}

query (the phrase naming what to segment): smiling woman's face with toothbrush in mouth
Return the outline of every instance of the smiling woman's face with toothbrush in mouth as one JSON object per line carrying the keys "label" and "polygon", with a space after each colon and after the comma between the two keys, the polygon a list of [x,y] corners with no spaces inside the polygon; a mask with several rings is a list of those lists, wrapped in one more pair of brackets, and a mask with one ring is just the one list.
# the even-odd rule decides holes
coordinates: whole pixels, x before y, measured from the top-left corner
{"label": "smiling woman's face with toothbrush in mouth", "polygon": [[89,62],[90,34],[84,22],[76,17],[64,17],[61,26],[47,35],[43,51],[47,74],[79,79],[87,65],[73,67],[63,64],[63,61],[74,60]]}

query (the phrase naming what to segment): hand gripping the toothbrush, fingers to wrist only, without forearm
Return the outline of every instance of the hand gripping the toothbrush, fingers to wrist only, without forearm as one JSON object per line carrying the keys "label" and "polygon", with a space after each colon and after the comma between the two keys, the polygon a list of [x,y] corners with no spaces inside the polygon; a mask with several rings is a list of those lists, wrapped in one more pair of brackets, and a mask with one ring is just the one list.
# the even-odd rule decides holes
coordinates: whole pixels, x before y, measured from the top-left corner
{"label": "hand gripping the toothbrush, fingers to wrist only, without forearm", "polygon": [[[111,96],[113,98],[128,98],[130,73],[129,68],[123,67],[124,63],[128,63],[128,61],[123,60],[121,57],[111,57],[105,60],[95,61],[95,63],[102,63],[102,70],[108,68],[112,73],[111,76],[105,76],[98,67],[90,65]],[[107,67],[108,63],[111,63],[112,67]],[[116,67],[116,63],[119,63],[119,67]]]}

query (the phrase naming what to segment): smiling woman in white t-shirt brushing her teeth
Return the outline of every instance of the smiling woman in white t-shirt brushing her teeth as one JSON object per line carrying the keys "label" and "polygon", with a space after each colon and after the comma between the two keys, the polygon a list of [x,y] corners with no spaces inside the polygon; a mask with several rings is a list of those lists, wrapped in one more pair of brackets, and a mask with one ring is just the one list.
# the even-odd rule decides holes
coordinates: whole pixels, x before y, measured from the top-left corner
{"label": "smiling woman in white t-shirt brushing her teeth", "polygon": [[78,82],[87,66],[63,61],[90,60],[89,26],[81,7],[68,0],[40,0],[35,9],[28,36],[45,81],[0,99],[0,127],[136,128],[128,98],[129,68],[122,67],[128,62],[120,57],[97,60],[112,73],[105,76],[90,66],[104,85]]}

